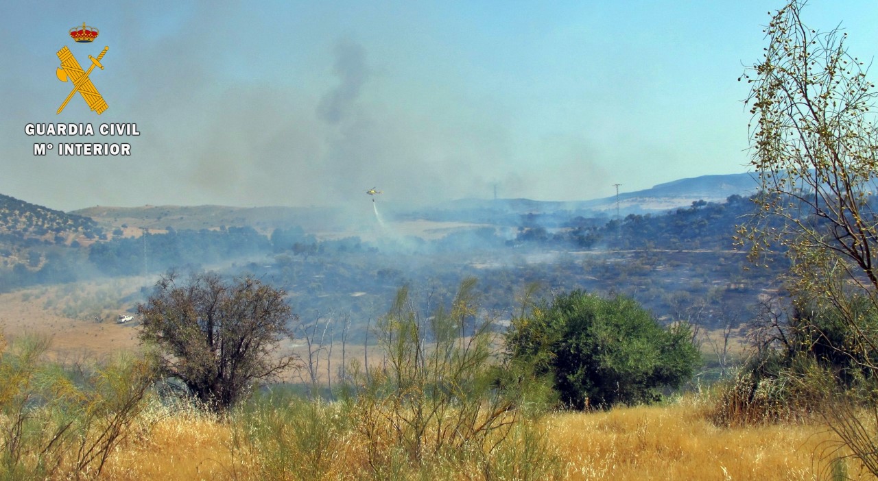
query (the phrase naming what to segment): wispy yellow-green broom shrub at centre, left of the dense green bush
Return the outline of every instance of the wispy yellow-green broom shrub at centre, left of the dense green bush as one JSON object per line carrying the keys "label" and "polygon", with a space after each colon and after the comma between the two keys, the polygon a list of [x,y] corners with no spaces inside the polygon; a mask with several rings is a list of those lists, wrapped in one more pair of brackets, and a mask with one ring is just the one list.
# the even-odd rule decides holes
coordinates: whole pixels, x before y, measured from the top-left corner
{"label": "wispy yellow-green broom shrub at centre, left of the dense green bush", "polygon": [[356,429],[379,475],[390,476],[385,470],[400,455],[417,466],[474,458],[491,470],[493,453],[539,413],[525,407],[539,404],[540,384],[501,358],[493,318],[479,319],[474,288],[475,279],[464,280],[450,309],[428,317],[402,288],[379,319],[386,363],[366,370],[355,406]]}

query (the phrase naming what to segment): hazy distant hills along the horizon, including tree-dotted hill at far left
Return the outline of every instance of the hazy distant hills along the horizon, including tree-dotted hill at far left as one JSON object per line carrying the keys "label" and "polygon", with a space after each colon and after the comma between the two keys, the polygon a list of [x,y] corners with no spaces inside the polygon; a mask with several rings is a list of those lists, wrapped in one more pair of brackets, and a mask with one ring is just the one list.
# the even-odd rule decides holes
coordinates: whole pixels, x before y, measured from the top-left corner
{"label": "hazy distant hills along the horizon, including tree-dotted hill at far left", "polygon": [[[757,186],[752,174],[699,176],[659,183],[651,189],[622,192],[618,205],[623,216],[659,213],[688,207],[697,200],[719,203],[733,195],[748,197]],[[0,194],[0,274],[4,269],[16,268],[18,274],[8,277],[14,280],[28,275],[27,272],[41,272],[49,256],[55,255],[59,248],[91,248],[94,243],[100,248],[105,241],[138,237],[144,232],[161,234],[172,229],[226,232],[227,228],[246,226],[270,236],[277,228],[298,226],[318,237],[342,238],[374,233],[377,224],[373,215],[377,216],[380,209],[385,219],[398,223],[397,226],[408,222],[406,228],[412,230],[405,232],[416,236],[430,232],[425,229],[447,232],[452,228],[560,228],[570,226],[573,219],[579,217],[601,223],[601,218],[614,217],[616,208],[615,196],[571,202],[527,198],[460,199],[415,209],[381,201],[376,209],[369,200],[360,200],[362,202],[335,208],[145,205],[95,206],[61,212]]]}

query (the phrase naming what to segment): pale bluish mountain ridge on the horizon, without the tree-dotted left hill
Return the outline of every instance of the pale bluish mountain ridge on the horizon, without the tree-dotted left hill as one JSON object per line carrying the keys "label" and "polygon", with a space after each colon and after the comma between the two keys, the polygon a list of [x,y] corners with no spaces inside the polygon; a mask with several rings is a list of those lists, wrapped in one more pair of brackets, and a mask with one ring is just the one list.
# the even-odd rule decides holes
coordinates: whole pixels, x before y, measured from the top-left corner
{"label": "pale bluish mountain ridge on the horizon, without the tree-dotted left hill", "polygon": [[[757,189],[752,174],[710,175],[659,183],[651,189],[619,194],[619,211],[659,213],[692,205],[694,201],[723,202],[727,197],[750,196]],[[426,219],[516,226],[522,215],[551,214],[557,223],[575,216],[615,215],[615,196],[579,201],[542,201],[528,198],[464,198],[412,209],[408,205],[379,202],[389,219]],[[371,209],[329,207],[229,207],[222,205],[145,205],[140,207],[95,206],[72,213],[90,217],[108,232],[117,226],[164,229],[216,229],[221,226],[252,226],[262,233],[278,227],[302,226],[308,231],[345,230],[371,220]],[[131,234],[126,229],[126,235]]]}

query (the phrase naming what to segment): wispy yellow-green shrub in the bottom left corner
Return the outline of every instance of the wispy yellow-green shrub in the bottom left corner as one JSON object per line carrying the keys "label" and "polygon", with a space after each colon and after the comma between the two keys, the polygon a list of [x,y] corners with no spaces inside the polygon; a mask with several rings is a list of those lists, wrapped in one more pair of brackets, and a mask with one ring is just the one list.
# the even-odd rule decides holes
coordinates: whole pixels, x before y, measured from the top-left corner
{"label": "wispy yellow-green shrub in the bottom left corner", "polygon": [[146,406],[148,363],[68,369],[41,360],[47,346],[20,338],[0,358],[0,479],[99,476]]}

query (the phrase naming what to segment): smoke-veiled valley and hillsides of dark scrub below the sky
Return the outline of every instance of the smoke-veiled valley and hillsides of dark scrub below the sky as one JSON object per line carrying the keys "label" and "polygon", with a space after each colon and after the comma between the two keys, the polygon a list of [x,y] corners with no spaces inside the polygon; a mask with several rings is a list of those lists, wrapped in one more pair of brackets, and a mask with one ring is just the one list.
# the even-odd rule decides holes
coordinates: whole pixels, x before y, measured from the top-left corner
{"label": "smoke-veiled valley and hillsides of dark scrub below the sky", "polygon": [[[759,296],[774,291],[771,271],[747,272],[744,253],[731,242],[735,226],[752,212],[752,183],[748,175],[680,179],[620,198],[620,205],[630,201],[620,207],[624,219],[615,218],[615,196],[392,209],[378,199],[364,203],[371,212],[356,216],[219,205],[102,206],[66,214],[2,197],[0,291],[97,286],[104,292],[98,298],[53,300],[45,288],[25,294],[59,306],[46,319],[82,321],[132,312],[169,269],[252,274],[289,292],[303,326],[349,319],[351,339],[365,341],[370,319],[385,312],[399,286],[445,298],[474,276],[483,305],[500,319],[536,283],[543,296],[572,289],[624,293],[668,321],[697,312],[706,326],[718,326],[729,315],[745,319]],[[664,211],[670,205],[675,208]],[[106,287],[119,283],[128,287]]]}

